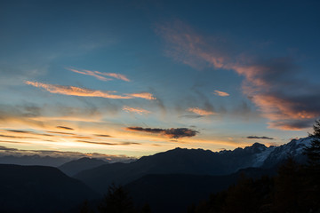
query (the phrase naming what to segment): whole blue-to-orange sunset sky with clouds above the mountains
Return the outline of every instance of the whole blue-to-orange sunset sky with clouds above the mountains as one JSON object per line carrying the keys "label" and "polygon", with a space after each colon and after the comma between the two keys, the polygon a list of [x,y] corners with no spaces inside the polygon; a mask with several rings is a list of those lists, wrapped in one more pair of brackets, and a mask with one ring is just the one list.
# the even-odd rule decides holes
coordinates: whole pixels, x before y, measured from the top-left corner
{"label": "whole blue-to-orange sunset sky with clouds above the mountains", "polygon": [[0,3],[0,152],[156,154],[307,137],[319,1]]}

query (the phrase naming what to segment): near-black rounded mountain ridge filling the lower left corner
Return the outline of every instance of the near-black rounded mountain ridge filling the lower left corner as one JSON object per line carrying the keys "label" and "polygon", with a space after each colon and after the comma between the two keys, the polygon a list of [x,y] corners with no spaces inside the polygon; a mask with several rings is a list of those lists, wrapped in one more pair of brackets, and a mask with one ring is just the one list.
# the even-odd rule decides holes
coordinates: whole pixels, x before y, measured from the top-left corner
{"label": "near-black rounded mountain ridge filling the lower left corner", "polygon": [[0,164],[0,174],[0,212],[58,212],[99,196],[52,167]]}

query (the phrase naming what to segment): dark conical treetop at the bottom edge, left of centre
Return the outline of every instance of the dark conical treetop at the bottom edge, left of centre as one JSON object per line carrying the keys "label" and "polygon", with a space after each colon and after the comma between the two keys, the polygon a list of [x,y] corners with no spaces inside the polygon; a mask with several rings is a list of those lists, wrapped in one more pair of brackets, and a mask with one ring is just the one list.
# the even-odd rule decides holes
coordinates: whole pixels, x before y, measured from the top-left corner
{"label": "dark conical treetop at the bottom edge, left of centre", "polygon": [[100,213],[135,213],[133,202],[124,187],[112,184],[108,187],[108,194],[98,207]]}

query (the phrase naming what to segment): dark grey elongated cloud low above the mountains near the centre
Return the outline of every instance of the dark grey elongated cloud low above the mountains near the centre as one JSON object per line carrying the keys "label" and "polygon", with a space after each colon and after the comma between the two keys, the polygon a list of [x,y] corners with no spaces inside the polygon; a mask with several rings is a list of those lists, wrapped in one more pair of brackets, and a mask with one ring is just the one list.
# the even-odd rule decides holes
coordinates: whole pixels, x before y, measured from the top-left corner
{"label": "dark grey elongated cloud low above the mountains near the centre", "polygon": [[192,130],[188,128],[171,128],[171,129],[159,129],[159,128],[142,128],[142,127],[128,127],[127,130],[132,131],[144,131],[153,134],[162,134],[168,138],[184,138],[184,137],[194,137],[197,130]]}

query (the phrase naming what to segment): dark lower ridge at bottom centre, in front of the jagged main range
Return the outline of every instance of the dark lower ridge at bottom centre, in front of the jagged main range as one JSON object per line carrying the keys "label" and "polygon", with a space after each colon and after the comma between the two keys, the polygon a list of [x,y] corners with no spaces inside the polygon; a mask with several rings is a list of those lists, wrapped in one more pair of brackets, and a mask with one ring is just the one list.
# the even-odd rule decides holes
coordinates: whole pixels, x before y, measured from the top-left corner
{"label": "dark lower ridge at bottom centre, in front of the jagged main range", "polygon": [[187,212],[192,203],[197,204],[236,184],[239,177],[275,175],[275,169],[250,168],[225,176],[197,176],[187,174],[147,175],[124,187],[138,206],[148,203],[154,213]]}

